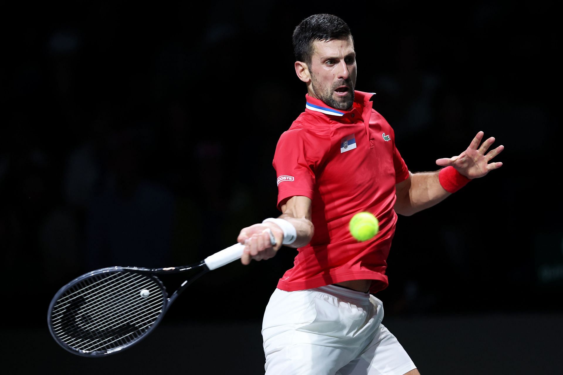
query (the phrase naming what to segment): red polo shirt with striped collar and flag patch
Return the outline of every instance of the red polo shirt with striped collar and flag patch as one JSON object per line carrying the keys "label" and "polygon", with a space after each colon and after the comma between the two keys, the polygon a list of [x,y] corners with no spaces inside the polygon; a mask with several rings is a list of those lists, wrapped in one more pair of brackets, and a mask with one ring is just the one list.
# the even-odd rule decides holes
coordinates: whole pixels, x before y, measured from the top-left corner
{"label": "red polo shirt with striped collar and flag patch", "polygon": [[[373,94],[355,91],[350,111],[306,95],[306,109],[278,141],[274,168],[278,208],[292,196],[312,200],[315,234],[301,247],[278,283],[285,291],[348,280],[373,279],[370,292],[387,287],[386,259],[395,233],[395,184],[409,171],[395,147],[395,133],[372,109]],[[379,233],[358,242],[348,223],[369,211]]]}

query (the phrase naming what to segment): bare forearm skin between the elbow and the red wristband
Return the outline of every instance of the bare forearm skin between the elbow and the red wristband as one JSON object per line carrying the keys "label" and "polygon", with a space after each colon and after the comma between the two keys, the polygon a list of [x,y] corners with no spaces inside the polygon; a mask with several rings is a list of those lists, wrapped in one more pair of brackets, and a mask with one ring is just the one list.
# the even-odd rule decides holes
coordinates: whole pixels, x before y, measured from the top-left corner
{"label": "bare forearm skin between the elbow and the red wristband", "polygon": [[409,216],[443,201],[451,193],[445,191],[438,178],[439,171],[413,173],[408,197],[404,197],[401,214]]}

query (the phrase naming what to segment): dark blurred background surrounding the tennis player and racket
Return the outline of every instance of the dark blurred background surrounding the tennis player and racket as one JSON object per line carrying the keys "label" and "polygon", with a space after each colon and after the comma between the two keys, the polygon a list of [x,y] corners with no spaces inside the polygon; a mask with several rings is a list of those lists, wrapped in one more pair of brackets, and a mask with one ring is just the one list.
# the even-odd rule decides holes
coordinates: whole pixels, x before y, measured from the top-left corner
{"label": "dark blurred background surrounding the tennis player and racket", "polygon": [[[88,270],[194,263],[279,215],[271,161],[306,93],[291,34],[319,12],[350,26],[356,88],[377,93],[374,109],[411,171],[436,170],[479,130],[505,146],[501,169],[399,218],[390,286],[378,293],[384,323],[422,373],[560,370],[560,20],[555,2],[499,1],[7,6],[0,249],[14,311],[5,308],[5,367],[135,363],[142,373],[147,356],[188,360],[199,349],[199,371],[261,372],[262,312],[293,249],[205,275],[154,338],[111,359],[60,349],[46,313]],[[43,356],[30,362],[19,347]]]}

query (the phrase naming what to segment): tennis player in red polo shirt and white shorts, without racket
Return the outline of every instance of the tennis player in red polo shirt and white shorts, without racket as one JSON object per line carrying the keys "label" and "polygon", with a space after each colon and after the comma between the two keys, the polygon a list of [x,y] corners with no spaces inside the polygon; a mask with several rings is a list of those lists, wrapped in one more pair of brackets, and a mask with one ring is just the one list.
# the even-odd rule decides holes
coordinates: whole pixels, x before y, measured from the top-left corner
{"label": "tennis player in red polo shirt and white shorts, without racket", "polygon": [[[266,374],[418,374],[383,324],[373,296],[387,287],[386,259],[397,215],[444,200],[473,178],[499,168],[503,146],[477,133],[445,168],[410,173],[395,133],[372,109],[372,94],[354,91],[354,41],[344,21],[313,15],[293,33],[295,71],[307,85],[306,109],[276,147],[279,218],[240,231],[242,263],[298,248],[264,315]],[[360,211],[379,220],[377,236],[358,242],[348,222]],[[271,234],[275,245],[270,242]],[[370,295],[372,293],[372,295]]]}

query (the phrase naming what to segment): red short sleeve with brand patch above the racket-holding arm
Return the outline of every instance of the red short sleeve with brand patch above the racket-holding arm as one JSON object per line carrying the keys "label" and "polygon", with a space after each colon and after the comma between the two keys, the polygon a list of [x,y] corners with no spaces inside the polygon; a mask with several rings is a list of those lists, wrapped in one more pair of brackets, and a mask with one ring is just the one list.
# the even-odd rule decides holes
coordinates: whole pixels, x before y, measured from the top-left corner
{"label": "red short sleeve with brand patch above the racket-holding arm", "polygon": [[312,200],[315,166],[321,151],[316,138],[306,129],[290,129],[280,137],[272,163],[278,183],[279,210],[285,198],[306,196]]}

